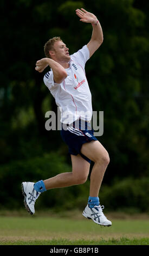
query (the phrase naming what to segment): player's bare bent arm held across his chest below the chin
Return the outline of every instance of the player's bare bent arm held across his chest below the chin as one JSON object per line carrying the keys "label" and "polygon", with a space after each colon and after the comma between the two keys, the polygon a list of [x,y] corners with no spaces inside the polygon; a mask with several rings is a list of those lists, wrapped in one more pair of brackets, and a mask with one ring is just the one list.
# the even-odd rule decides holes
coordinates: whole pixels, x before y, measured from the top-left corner
{"label": "player's bare bent arm held across his chest below the chin", "polygon": [[55,83],[61,83],[66,77],[67,72],[59,63],[55,62],[55,60],[50,58],[43,58],[36,62],[35,70],[38,72],[42,72],[47,66],[53,70],[53,77]]}

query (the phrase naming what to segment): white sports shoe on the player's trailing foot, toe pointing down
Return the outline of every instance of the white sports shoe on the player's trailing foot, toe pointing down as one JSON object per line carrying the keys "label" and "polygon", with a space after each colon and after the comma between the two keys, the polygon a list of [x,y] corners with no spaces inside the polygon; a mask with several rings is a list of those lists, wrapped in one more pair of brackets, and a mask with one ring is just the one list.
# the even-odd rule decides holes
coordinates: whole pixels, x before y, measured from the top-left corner
{"label": "white sports shoe on the player's trailing foot, toe pointing down", "polygon": [[34,188],[34,182],[22,182],[22,194],[24,196],[24,205],[30,214],[35,214],[35,201],[41,192],[37,192]]}

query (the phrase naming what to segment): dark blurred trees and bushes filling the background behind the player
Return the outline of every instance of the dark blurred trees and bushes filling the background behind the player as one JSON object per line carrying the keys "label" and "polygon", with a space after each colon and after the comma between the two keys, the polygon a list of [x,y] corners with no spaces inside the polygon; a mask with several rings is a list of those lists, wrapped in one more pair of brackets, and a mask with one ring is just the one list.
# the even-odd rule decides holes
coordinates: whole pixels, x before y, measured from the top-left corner
{"label": "dark blurred trees and bushes filling the background behind the player", "polygon": [[[57,112],[43,83],[49,68],[39,74],[35,63],[44,57],[43,46],[53,36],[61,36],[70,54],[88,43],[92,25],[79,21],[77,8],[98,17],[104,36],[103,44],[86,63],[93,110],[104,111],[104,133],[98,139],[111,158],[100,192],[102,203],[114,210],[148,211],[147,0],[92,0],[92,4],[89,0],[1,1],[1,208],[22,207],[23,180],[37,181],[71,171],[60,131],[45,129],[45,113]],[[39,204],[55,207],[62,194],[63,198],[70,194],[70,205],[61,200],[63,207],[82,207],[88,188],[89,178],[84,185],[45,193]]]}

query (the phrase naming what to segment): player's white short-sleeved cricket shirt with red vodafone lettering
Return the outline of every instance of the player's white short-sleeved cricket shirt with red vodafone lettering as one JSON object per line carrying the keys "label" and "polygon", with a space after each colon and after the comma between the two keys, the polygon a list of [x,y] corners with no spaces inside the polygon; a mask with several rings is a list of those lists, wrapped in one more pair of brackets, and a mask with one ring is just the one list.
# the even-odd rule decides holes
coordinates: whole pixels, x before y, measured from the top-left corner
{"label": "player's white short-sleeved cricket shirt with red vodafone lettering", "polygon": [[79,118],[87,121],[92,119],[92,96],[85,74],[88,59],[89,50],[85,45],[70,55],[67,77],[62,83],[54,83],[52,70],[44,75],[44,84],[54,96],[56,105],[60,107],[61,123],[71,124]]}

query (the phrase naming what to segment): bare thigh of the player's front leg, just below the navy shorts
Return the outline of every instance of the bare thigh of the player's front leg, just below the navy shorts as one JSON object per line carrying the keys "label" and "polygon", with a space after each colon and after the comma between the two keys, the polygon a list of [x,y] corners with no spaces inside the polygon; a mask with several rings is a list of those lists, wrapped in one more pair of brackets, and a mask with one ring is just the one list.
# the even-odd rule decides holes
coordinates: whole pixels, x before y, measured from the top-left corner
{"label": "bare thigh of the player's front leg, just below the navy shorts", "polygon": [[81,153],[87,156],[93,162],[109,157],[107,150],[99,141],[91,141],[83,144]]}

